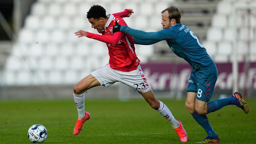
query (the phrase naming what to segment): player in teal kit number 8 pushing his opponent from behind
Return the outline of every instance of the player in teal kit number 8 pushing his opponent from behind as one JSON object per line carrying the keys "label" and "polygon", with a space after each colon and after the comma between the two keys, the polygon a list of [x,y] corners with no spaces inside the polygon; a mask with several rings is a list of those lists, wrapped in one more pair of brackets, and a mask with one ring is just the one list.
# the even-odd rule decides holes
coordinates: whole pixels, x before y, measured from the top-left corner
{"label": "player in teal kit number 8 pushing his opponent from behind", "polygon": [[134,44],[151,45],[166,40],[170,49],[192,66],[187,86],[186,108],[207,133],[206,138],[199,143],[218,143],[219,137],[212,129],[206,114],[226,105],[236,105],[248,114],[249,107],[239,92],[228,98],[210,101],[218,77],[214,61],[196,35],[181,23],[179,8],[170,6],[161,13],[163,30],[144,32],[116,23],[113,32],[122,31],[133,36]]}

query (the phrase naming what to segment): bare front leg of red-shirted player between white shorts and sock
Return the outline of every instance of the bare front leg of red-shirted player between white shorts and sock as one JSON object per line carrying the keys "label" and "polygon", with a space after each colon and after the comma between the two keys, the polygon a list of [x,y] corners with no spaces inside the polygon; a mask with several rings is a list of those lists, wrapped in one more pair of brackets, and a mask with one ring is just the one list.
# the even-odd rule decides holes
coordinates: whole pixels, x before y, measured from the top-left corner
{"label": "bare front leg of red-shirted player between white shorts and sock", "polygon": [[89,74],[74,86],[73,91],[75,94],[81,94],[88,89],[99,85],[99,81],[93,75]]}

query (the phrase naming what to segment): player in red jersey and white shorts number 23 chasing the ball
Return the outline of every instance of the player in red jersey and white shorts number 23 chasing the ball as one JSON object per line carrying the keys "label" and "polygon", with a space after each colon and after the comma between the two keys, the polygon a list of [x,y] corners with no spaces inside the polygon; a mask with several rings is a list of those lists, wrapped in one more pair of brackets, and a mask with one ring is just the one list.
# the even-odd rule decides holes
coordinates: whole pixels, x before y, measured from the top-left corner
{"label": "player in red jersey and white shorts number 23 chasing the ball", "polygon": [[92,28],[97,29],[102,35],[82,30],[75,32],[78,37],[86,36],[106,43],[110,58],[107,65],[93,71],[74,86],[73,92],[78,119],[73,134],[79,134],[84,122],[90,118],[90,114],[84,110],[84,92],[95,86],[109,87],[115,82],[121,82],[137,90],[153,109],[171,122],[180,140],[186,142],[188,137],[181,122],[176,120],[168,107],[155,97],[151,86],[148,84],[139,65],[140,60],[135,53],[133,37],[123,32],[113,34],[115,22],[127,26],[119,16],[125,17],[124,13],[129,16],[132,12],[131,9],[126,9],[124,12],[106,16],[106,10],[102,6],[94,5],[87,12],[87,18]]}

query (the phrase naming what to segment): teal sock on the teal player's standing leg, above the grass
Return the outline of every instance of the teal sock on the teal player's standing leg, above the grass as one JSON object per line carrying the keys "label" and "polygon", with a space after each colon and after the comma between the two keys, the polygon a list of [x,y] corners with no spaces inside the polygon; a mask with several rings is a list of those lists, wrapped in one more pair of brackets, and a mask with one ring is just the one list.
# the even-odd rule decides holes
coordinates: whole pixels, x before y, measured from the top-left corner
{"label": "teal sock on the teal player's standing leg, above the grass", "polygon": [[212,126],[209,123],[209,120],[206,115],[200,115],[197,112],[192,113],[192,117],[196,120],[198,124],[200,124],[207,133],[209,137],[216,137],[216,133],[212,129]]}

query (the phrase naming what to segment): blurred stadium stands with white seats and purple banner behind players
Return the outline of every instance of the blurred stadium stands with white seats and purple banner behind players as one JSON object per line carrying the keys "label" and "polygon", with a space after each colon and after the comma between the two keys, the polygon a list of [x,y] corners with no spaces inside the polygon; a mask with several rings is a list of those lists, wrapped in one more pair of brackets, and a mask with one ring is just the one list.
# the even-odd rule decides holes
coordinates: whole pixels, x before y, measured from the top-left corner
{"label": "blurred stadium stands with white seats and purple banner behind players", "polygon": [[[73,98],[73,86],[109,59],[104,43],[78,30],[97,33],[86,18],[93,5],[107,14],[132,8],[128,26],[162,29],[161,11],[177,6],[216,62],[213,98],[240,91],[255,97],[256,0],[0,0],[0,99]],[[157,97],[185,98],[191,66],[165,41],[135,45],[141,67]],[[142,98],[121,83],[92,88],[87,98]]]}

